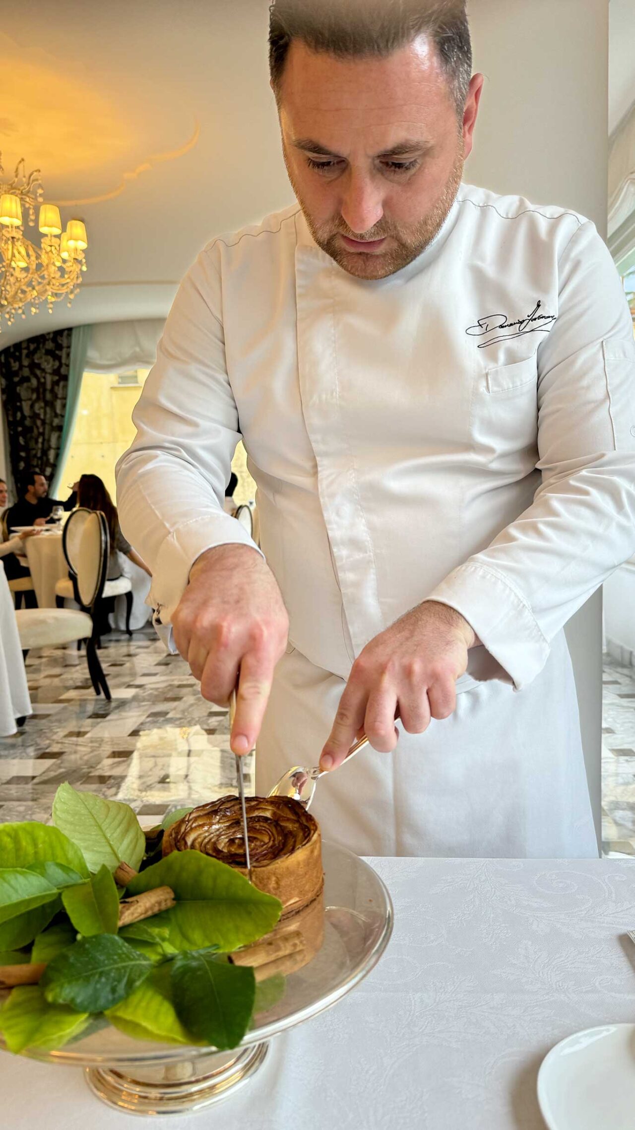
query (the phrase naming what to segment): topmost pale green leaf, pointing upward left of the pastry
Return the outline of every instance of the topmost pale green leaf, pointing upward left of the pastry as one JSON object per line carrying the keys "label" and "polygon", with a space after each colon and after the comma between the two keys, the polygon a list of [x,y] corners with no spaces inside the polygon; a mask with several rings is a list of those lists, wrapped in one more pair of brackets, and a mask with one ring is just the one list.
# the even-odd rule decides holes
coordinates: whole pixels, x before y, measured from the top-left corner
{"label": "topmost pale green leaf, pointing upward left of the pastry", "polygon": [[139,868],[146,837],[130,805],[77,792],[64,783],[55,793],[53,822],[81,849],[92,871],[98,871],[103,863],[114,871],[122,860],[134,870]]}

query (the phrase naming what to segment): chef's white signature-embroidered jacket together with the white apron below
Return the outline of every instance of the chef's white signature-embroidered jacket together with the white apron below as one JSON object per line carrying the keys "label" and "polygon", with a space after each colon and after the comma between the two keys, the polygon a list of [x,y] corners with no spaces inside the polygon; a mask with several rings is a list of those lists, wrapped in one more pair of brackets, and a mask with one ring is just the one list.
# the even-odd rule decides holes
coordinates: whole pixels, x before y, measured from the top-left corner
{"label": "chef's white signature-embroidered jacket together with the white apron below", "polygon": [[458,710],[320,784],[367,854],[593,855],[563,625],[635,551],[635,342],[593,224],[463,184],[385,279],[343,271],[297,206],[212,240],[181,284],[118,466],[164,625],[243,437],[289,612],[259,791],[313,765],[355,657],[429,598],[470,652]]}

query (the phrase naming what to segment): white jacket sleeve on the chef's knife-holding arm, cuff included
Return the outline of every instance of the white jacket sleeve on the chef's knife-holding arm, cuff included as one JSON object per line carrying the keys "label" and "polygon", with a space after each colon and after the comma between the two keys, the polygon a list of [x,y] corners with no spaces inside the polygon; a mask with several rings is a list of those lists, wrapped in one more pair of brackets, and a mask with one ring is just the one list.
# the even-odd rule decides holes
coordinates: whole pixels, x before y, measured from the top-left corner
{"label": "white jacket sleeve on the chef's knife-holding arm, cuff included", "polygon": [[206,549],[228,542],[258,548],[223,508],[241,436],[214,244],[179,288],[132,419],[137,436],[116,467],[119,516],[151,570],[148,603],[168,624]]}

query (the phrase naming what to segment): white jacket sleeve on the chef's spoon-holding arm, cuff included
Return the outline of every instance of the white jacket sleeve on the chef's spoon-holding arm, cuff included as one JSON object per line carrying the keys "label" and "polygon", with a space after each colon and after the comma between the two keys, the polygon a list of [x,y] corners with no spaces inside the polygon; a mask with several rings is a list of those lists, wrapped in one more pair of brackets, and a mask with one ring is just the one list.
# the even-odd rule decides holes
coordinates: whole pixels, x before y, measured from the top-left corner
{"label": "white jacket sleeve on the chef's spoon-holding arm, cuff included", "polygon": [[558,318],[538,349],[532,505],[429,593],[455,608],[521,689],[556,633],[635,553],[635,341],[593,224],[559,260]]}

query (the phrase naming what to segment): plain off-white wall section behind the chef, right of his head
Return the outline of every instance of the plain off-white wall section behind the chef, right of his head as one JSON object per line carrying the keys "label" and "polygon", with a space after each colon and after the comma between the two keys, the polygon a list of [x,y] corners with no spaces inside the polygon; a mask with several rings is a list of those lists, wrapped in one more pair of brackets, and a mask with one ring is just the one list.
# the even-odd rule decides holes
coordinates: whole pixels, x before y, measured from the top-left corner
{"label": "plain off-white wall section behind the chef, right of his head", "polygon": [[[487,76],[467,180],[607,225],[608,0],[471,0]],[[584,755],[600,832],[601,593],[573,618]]]}

